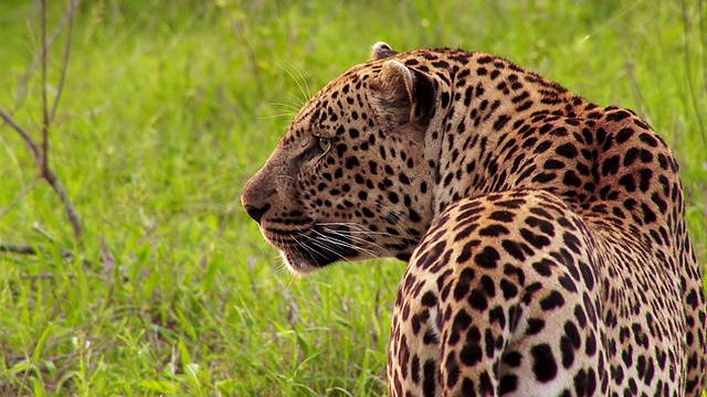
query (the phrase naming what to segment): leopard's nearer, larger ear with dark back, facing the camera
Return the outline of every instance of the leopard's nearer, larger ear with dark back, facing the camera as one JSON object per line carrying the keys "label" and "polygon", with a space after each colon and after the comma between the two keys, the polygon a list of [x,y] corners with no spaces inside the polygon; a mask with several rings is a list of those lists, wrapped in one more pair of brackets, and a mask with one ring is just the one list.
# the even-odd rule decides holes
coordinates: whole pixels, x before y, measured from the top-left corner
{"label": "leopard's nearer, larger ear with dark back, facing the camera", "polygon": [[394,60],[387,61],[373,88],[389,119],[426,127],[434,116],[436,90],[433,79],[422,72]]}

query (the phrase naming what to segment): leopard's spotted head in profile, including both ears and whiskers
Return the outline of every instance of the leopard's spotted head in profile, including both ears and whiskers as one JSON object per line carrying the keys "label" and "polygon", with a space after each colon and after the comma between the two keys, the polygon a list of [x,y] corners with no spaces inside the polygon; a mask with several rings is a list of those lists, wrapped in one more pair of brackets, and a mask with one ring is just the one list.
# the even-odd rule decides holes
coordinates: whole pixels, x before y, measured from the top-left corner
{"label": "leopard's spotted head in profile, including both ears and whiskers", "polygon": [[317,93],[241,201],[287,267],[407,259],[432,221],[437,82],[386,43]]}

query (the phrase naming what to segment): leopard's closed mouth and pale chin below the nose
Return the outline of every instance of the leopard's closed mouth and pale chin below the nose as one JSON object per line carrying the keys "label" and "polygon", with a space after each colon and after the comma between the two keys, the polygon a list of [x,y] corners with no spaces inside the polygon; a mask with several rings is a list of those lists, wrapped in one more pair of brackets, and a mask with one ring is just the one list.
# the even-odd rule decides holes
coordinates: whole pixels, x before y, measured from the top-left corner
{"label": "leopard's closed mouth and pale chin below the nose", "polygon": [[265,238],[279,249],[285,265],[295,273],[307,273],[339,260],[359,256],[360,248],[352,244],[347,226],[324,227],[313,225],[306,229],[268,230]]}

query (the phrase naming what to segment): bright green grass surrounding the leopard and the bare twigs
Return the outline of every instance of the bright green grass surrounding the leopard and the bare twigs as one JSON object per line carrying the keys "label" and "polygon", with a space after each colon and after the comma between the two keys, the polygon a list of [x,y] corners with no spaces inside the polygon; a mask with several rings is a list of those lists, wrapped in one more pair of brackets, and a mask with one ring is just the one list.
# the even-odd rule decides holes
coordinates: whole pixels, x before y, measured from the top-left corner
{"label": "bright green grass surrounding the leopard and the bare twigs", "polygon": [[[51,32],[65,6],[50,3]],[[344,264],[294,279],[239,204],[308,90],[366,61],[379,40],[496,53],[637,110],[679,159],[689,230],[707,258],[698,0],[686,10],[648,0],[167,3],[80,9],[51,161],[86,249],[77,260],[59,255],[76,246],[45,183],[0,217],[0,240],[54,247],[39,258],[0,254],[2,395],[384,393],[404,266]],[[35,137],[39,74],[18,93],[39,26],[35,1],[0,3],[0,106]],[[50,54],[50,93],[61,50]],[[0,213],[35,174],[24,142],[0,125]]]}

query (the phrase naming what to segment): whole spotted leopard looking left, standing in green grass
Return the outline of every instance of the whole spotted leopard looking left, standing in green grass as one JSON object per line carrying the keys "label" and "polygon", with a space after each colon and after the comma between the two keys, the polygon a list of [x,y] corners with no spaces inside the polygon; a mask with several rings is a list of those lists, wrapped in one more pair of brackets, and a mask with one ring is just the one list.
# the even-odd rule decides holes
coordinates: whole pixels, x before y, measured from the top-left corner
{"label": "whole spotted leopard looking left, standing in green grass", "polygon": [[286,267],[407,262],[390,396],[700,396],[679,167],[634,111],[484,52],[373,45],[241,202]]}

